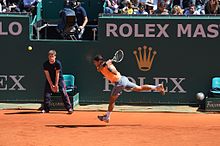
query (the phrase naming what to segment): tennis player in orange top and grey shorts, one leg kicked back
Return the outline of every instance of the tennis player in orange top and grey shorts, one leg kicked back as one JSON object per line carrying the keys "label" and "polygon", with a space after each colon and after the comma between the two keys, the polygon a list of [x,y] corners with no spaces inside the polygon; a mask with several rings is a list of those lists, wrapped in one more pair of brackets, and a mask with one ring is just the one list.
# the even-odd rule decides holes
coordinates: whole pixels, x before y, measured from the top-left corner
{"label": "tennis player in orange top and grey shorts, one leg kicked back", "polygon": [[123,89],[130,89],[132,91],[141,92],[141,91],[157,91],[160,92],[162,95],[165,94],[163,84],[158,85],[136,85],[128,80],[126,76],[120,74],[117,71],[115,66],[112,63],[112,60],[104,61],[104,58],[101,55],[97,55],[93,59],[93,63],[96,66],[98,72],[101,72],[106,79],[108,79],[111,83],[114,83],[115,86],[112,89],[108,111],[103,116],[98,116],[100,121],[104,121],[106,123],[110,120],[111,112],[113,111],[115,101],[121,95]]}

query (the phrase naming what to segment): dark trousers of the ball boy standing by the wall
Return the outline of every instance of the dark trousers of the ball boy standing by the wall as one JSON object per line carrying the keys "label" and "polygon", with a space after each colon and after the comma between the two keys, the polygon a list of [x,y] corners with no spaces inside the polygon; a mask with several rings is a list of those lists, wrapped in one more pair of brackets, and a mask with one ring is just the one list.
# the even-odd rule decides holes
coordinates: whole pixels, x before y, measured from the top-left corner
{"label": "dark trousers of the ball boy standing by the wall", "polygon": [[[50,85],[46,83],[44,88],[44,110],[46,112],[50,111],[50,102],[51,102],[52,93],[53,92],[51,91]],[[72,107],[70,103],[70,98],[66,92],[66,86],[64,81],[61,81],[59,83],[59,95],[61,95],[63,99],[64,107],[66,108],[66,110],[71,109]]]}

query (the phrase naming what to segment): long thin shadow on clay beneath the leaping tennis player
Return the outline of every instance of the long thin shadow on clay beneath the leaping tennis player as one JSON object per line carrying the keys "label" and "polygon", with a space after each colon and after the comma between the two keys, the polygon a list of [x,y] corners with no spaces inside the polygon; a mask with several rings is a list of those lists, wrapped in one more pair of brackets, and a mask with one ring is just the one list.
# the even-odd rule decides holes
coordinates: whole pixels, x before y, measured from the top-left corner
{"label": "long thin shadow on clay beneath the leaping tennis player", "polygon": [[122,126],[141,126],[141,124],[133,124],[133,125],[126,125],[126,124],[117,124],[117,125],[46,125],[46,127],[55,127],[55,128],[97,128],[97,127],[122,127]]}

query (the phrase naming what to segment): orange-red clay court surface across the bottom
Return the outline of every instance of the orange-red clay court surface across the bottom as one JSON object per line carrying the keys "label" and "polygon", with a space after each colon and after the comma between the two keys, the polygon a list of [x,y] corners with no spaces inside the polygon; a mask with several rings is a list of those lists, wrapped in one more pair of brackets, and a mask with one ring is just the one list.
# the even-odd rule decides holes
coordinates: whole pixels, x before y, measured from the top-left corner
{"label": "orange-red clay court surface across the bottom", "polygon": [[0,146],[219,146],[220,114],[0,110]]}

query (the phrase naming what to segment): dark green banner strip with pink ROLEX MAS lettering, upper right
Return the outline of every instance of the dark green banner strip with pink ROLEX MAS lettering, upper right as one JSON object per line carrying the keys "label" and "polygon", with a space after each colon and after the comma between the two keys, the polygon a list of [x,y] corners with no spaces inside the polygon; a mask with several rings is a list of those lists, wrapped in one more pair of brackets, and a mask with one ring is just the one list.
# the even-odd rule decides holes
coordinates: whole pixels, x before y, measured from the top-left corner
{"label": "dark green banner strip with pink ROLEX MAS lettering, upper right", "polygon": [[[212,17],[214,18],[214,17]],[[177,16],[103,16],[100,39],[219,38],[219,18]]]}

